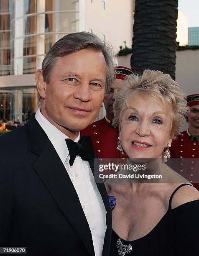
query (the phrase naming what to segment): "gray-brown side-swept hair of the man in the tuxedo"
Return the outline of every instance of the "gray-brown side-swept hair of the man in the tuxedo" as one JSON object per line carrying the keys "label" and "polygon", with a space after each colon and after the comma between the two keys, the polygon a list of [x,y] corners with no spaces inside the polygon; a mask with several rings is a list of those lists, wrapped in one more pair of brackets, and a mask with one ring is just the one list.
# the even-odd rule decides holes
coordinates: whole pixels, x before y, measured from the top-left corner
{"label": "gray-brown side-swept hair of the man in the tuxedo", "polygon": [[[43,79],[46,84],[51,80],[51,71],[59,57],[72,54],[82,49],[102,51],[106,61],[106,85],[108,92],[114,81],[114,64],[112,46],[107,45],[98,36],[89,32],[77,32],[68,34],[59,39],[48,51],[42,62]],[[38,94],[38,105],[41,106],[42,97]]]}

